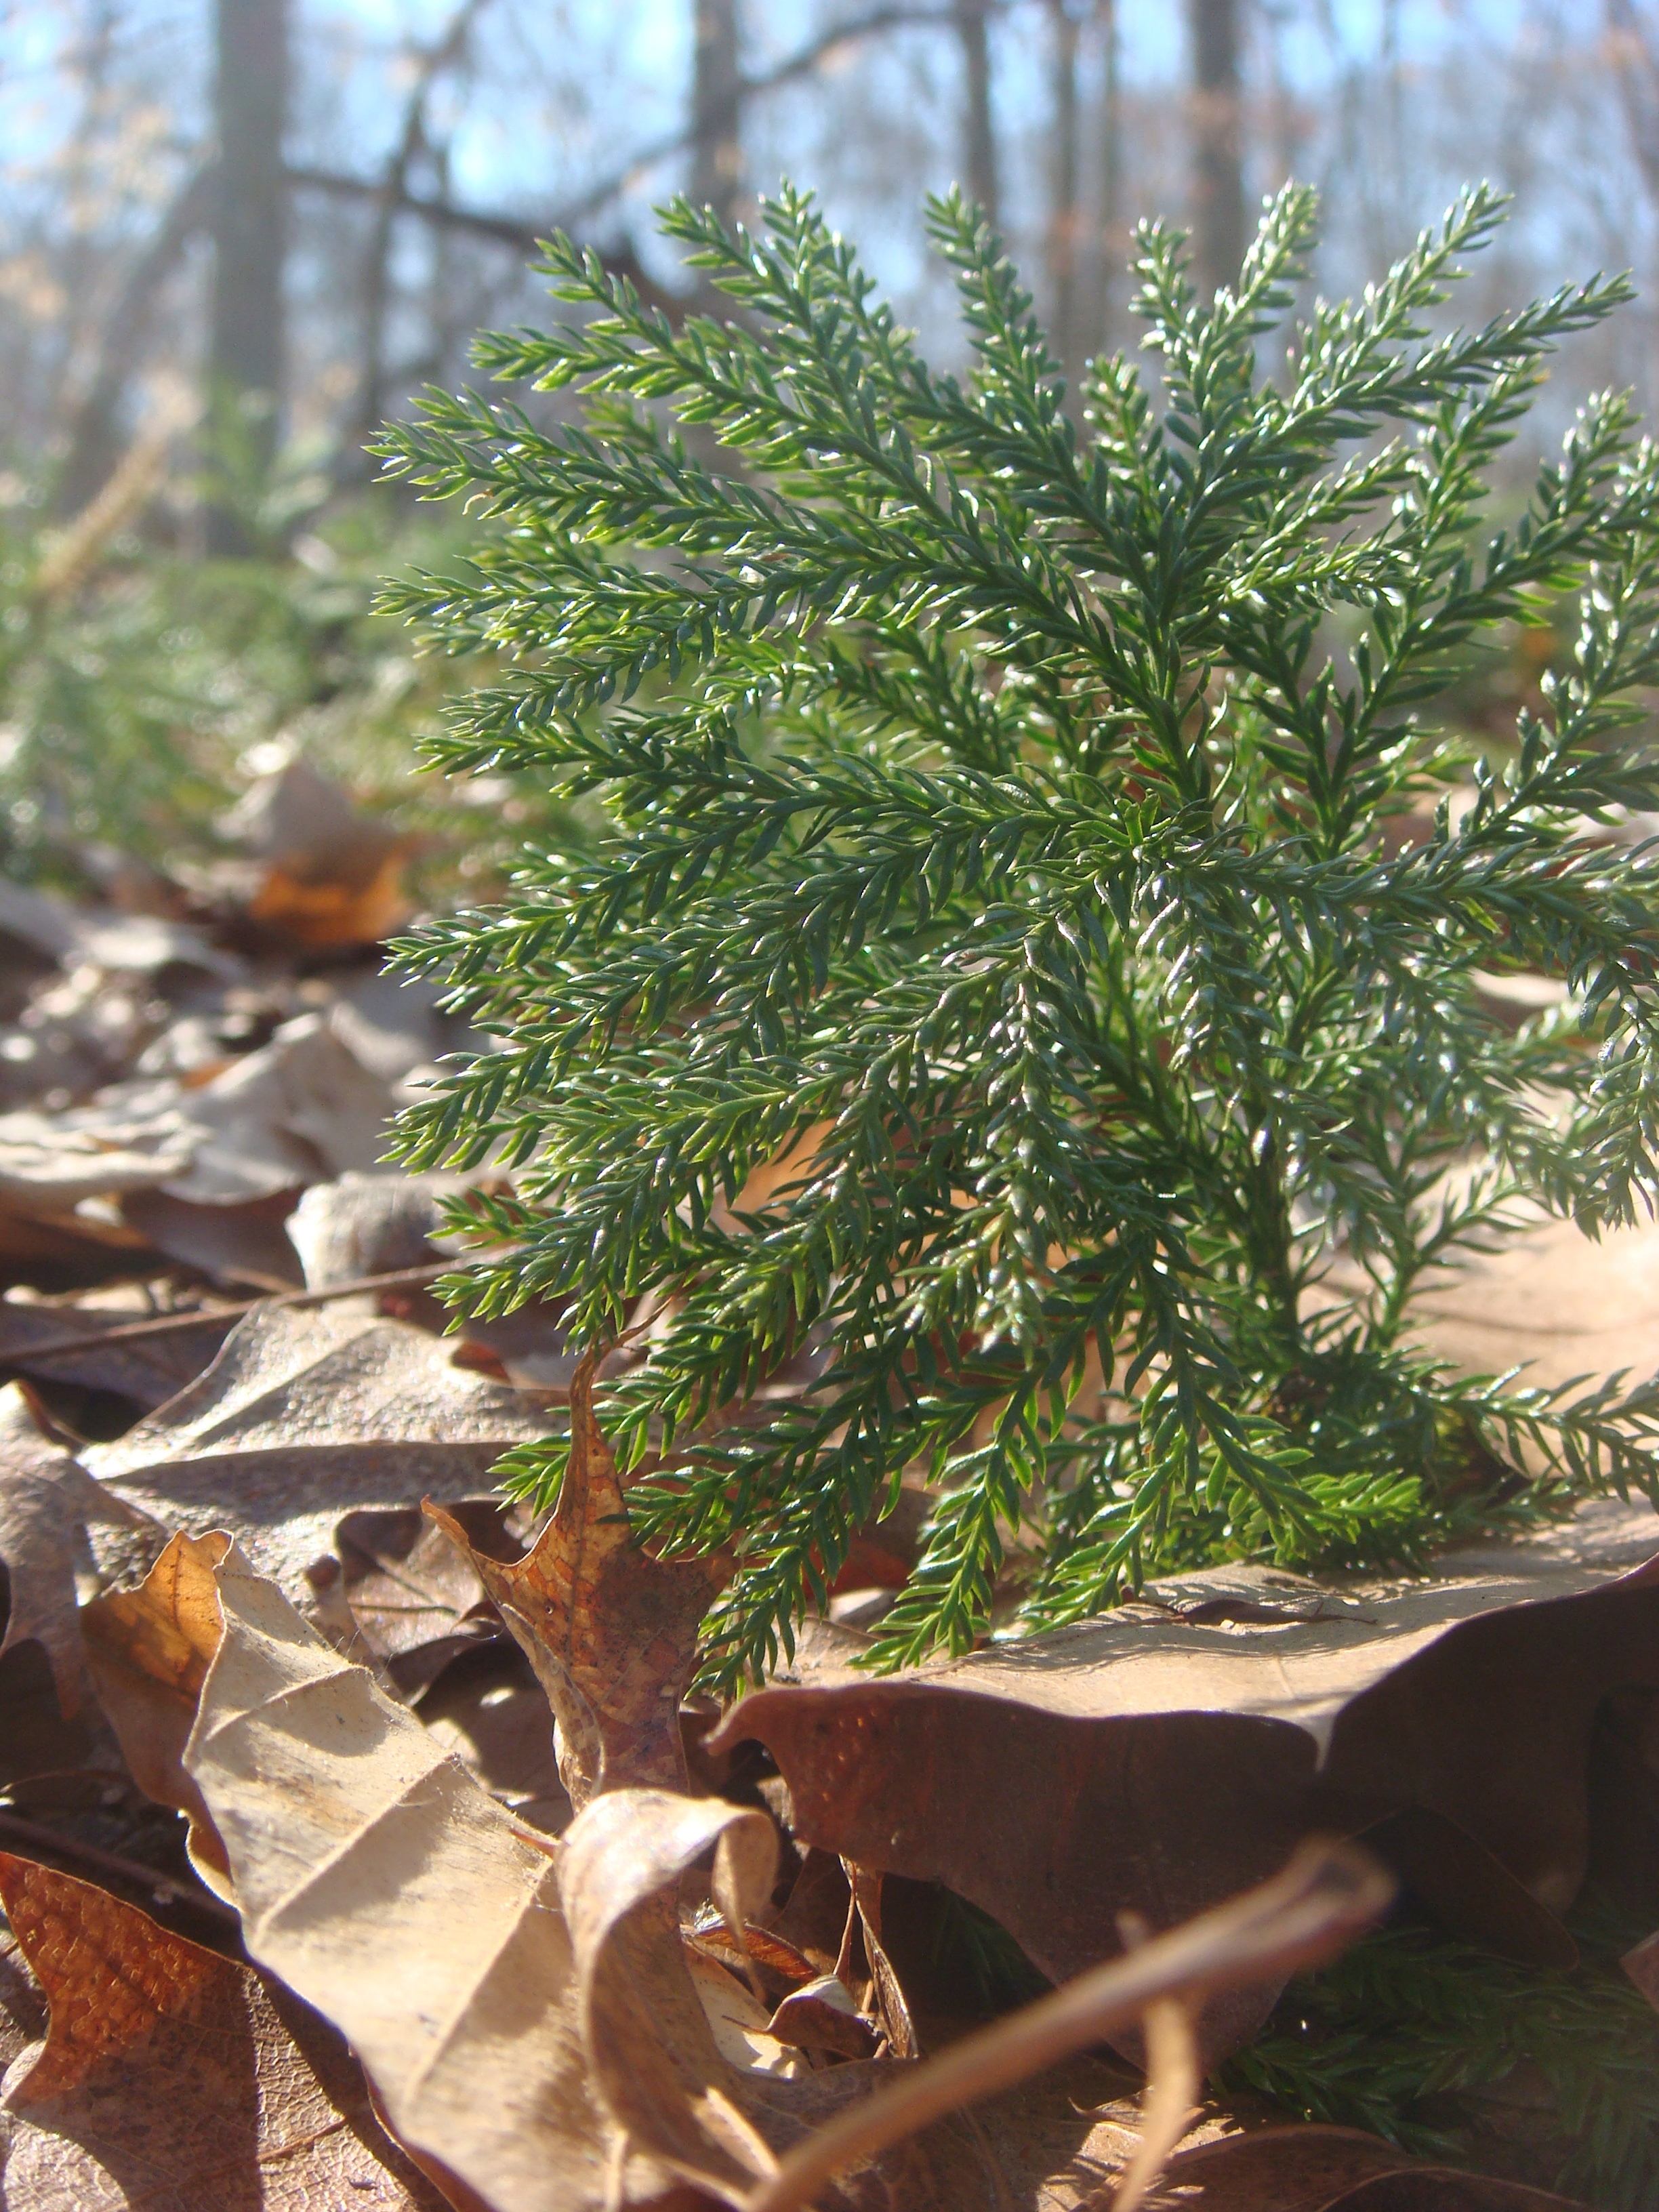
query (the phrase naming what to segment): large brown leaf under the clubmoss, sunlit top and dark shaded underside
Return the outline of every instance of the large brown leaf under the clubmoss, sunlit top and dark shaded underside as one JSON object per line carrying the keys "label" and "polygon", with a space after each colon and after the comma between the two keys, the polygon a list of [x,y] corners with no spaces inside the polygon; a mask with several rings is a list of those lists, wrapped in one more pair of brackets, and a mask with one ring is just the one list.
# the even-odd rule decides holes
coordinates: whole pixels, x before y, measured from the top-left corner
{"label": "large brown leaf under the clubmoss, sunlit top and dark shaded underside", "polygon": [[[1650,1506],[1599,1500],[1416,1582],[1234,1568],[891,1679],[841,1637],[710,1750],[763,1743],[801,1843],[947,1882],[1053,1980],[1113,1955],[1119,1913],[1172,1927],[1314,1832],[1374,1832],[1455,1933],[1571,1960],[1597,1708],[1659,1686],[1655,1551]],[[1206,2053],[1272,1997],[1219,2004]]]}

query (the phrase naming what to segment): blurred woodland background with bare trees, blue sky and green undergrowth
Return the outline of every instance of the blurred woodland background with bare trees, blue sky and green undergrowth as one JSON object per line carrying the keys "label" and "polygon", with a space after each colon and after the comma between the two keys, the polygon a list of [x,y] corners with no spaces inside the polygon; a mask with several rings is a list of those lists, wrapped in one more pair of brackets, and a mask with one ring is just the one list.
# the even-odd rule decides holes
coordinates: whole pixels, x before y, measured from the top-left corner
{"label": "blurred woodland background with bare trees, blue sky and green undergrowth", "polygon": [[[1296,173],[1338,292],[1484,175],[1515,221],[1460,319],[1597,265],[1644,294],[1562,354],[1540,434],[1659,380],[1650,0],[18,0],[0,124],[0,872],[66,889],[108,849],[188,874],[294,754],[407,832],[427,902],[546,818],[411,774],[478,668],[416,659],[374,584],[478,524],[363,445],[467,378],[476,327],[546,321],[555,226],[672,319],[701,299],[650,206],[748,219],[787,168],[949,365],[920,201],[962,179],[1075,376],[1135,343],[1141,215],[1223,283]],[[1473,732],[1502,743],[1557,644],[1471,664]]]}

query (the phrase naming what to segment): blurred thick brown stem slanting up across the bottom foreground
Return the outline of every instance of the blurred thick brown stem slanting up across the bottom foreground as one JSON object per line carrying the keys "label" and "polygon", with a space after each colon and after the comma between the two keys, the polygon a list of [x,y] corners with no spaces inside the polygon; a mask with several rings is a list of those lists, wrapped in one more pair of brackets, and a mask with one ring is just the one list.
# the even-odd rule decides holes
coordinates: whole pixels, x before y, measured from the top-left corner
{"label": "blurred thick brown stem slanting up across the bottom foreground", "polygon": [[843,2168],[865,2166],[947,2112],[1086,2051],[1159,2002],[1186,1997],[1197,2006],[1214,1991],[1334,1958],[1391,1896],[1391,1876],[1365,1851],[1305,1843],[1274,1880],[1077,1975],[849,2106],[757,2183],[743,2212],[801,2212]]}

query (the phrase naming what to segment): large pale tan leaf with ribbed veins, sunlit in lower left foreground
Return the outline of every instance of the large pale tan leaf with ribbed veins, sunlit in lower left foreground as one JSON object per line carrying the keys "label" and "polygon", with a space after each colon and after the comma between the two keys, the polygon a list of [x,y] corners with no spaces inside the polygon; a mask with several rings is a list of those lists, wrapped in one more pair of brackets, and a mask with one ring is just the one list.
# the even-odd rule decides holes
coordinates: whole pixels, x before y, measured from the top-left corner
{"label": "large pale tan leaf with ribbed veins, sunlit in lower left foreground", "polygon": [[212,1573],[223,1639],[184,1763],[250,1955],[341,2028],[398,2139],[491,2212],[597,2212],[611,2132],[546,1851],[274,1584],[234,1551]]}

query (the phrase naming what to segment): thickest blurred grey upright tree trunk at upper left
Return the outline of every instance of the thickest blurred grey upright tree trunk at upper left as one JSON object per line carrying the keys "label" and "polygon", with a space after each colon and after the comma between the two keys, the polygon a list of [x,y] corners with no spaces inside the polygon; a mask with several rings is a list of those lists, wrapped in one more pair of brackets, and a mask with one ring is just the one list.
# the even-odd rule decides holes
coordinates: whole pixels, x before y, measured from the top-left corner
{"label": "thickest blurred grey upright tree trunk at upper left", "polygon": [[[288,188],[288,0],[215,0],[219,192],[215,206],[210,405],[241,418],[254,458],[276,451],[283,396]],[[234,416],[232,416],[234,409]],[[208,542],[246,551],[241,522],[215,511]]]}

